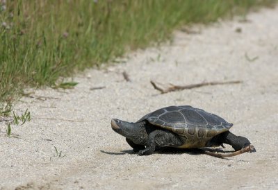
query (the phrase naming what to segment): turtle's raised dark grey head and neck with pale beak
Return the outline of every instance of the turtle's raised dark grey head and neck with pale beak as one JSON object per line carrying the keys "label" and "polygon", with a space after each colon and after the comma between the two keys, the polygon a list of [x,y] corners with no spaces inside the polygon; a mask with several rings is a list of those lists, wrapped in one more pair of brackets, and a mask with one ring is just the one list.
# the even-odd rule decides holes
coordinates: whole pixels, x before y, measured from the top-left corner
{"label": "turtle's raised dark grey head and neck with pale beak", "polygon": [[111,127],[115,132],[131,139],[134,143],[142,144],[147,141],[145,122],[129,123],[120,119],[112,119]]}

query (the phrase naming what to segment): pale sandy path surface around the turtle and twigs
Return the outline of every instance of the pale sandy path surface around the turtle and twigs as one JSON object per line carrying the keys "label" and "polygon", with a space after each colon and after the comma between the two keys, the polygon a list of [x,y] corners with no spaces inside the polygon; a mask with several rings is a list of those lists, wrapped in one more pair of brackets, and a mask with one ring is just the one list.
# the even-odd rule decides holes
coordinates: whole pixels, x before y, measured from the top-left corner
{"label": "pale sandy path surface around the turtle and twigs", "polygon": [[[245,22],[193,28],[199,34],[177,31],[172,44],[76,76],[74,89],[29,89],[32,97],[22,98],[15,111],[28,108],[32,120],[13,125],[10,138],[0,122],[0,189],[278,189],[277,18],[278,8],[265,9]],[[159,94],[150,80],[243,83]],[[111,130],[112,118],[137,121],[168,105],[222,116],[257,152],[229,159],[193,150],[140,157]]]}

